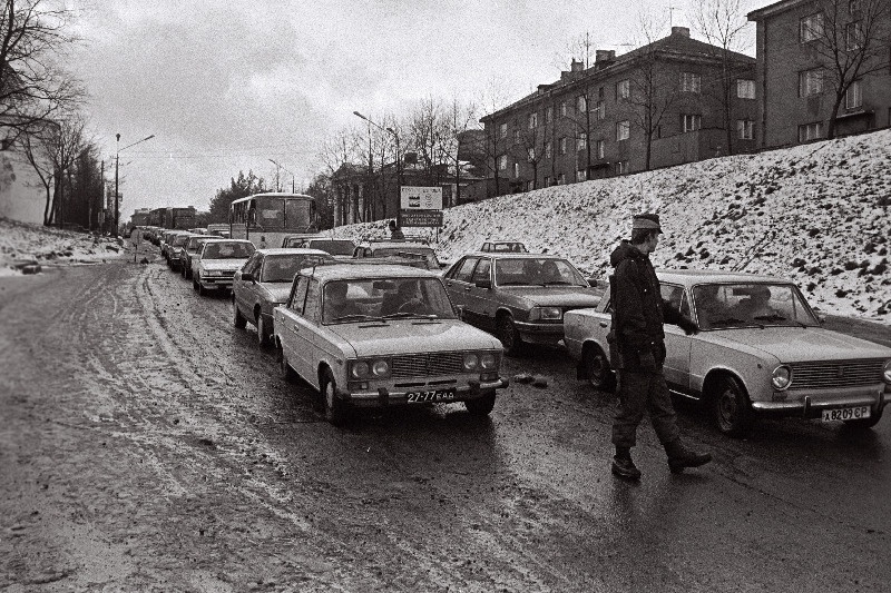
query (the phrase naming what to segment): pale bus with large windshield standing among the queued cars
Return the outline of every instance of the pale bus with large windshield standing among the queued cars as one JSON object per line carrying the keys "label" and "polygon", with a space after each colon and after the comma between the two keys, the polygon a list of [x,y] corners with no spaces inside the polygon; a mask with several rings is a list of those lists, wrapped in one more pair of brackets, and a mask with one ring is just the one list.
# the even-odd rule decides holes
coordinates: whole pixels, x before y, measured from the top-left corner
{"label": "pale bus with large windshield standing among the queued cars", "polygon": [[315,198],[304,194],[255,194],[232,202],[233,239],[248,239],[256,247],[278,247],[285,235],[317,233]]}

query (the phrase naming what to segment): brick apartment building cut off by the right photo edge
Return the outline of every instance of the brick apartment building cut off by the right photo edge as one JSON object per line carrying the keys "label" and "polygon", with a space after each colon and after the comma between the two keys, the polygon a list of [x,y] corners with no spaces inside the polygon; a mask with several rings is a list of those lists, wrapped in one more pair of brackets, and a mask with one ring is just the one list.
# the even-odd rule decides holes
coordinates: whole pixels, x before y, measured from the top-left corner
{"label": "brick apartment building cut off by the right photo edge", "polygon": [[891,1],[782,0],[748,20],[758,148],[891,125]]}

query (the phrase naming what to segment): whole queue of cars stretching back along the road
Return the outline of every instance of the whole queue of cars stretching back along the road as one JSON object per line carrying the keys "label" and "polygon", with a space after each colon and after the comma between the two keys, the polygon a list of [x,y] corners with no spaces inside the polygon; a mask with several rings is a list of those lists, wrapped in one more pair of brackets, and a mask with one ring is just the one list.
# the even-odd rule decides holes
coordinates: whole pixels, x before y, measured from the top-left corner
{"label": "whole queue of cars stretching back along the road", "polygon": [[[186,246],[217,240],[193,236]],[[444,270],[417,250],[398,241],[354,246],[353,257],[311,247],[256,250],[233,273],[233,323],[255,325],[258,342],[280,349],[283,375],[320,391],[319,408],[333,423],[350,409],[421,402],[464,402],[488,414],[507,385],[498,376],[502,353],[531,345],[565,346],[579,378],[599,391],[615,386],[608,287],[516,241],[464,254]],[[302,259],[272,271],[286,258]],[[193,261],[188,269],[200,289],[204,268]],[[701,328],[686,336],[666,326],[666,382],[707,405],[723,433],[745,435],[765,416],[854,428],[881,418],[891,348],[825,329],[792,283],[706,270],[658,275],[663,298]],[[330,315],[344,304],[349,314]]]}

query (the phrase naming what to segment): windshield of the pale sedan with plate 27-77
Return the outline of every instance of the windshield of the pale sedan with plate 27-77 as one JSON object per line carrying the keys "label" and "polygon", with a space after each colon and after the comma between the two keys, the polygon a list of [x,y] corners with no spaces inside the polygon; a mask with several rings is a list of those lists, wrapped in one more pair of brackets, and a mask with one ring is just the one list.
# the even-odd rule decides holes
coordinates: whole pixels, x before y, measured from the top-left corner
{"label": "windshield of the pale sedan with plate 27-77", "polygon": [[343,324],[402,318],[454,319],[439,278],[332,280],[322,296],[322,320]]}

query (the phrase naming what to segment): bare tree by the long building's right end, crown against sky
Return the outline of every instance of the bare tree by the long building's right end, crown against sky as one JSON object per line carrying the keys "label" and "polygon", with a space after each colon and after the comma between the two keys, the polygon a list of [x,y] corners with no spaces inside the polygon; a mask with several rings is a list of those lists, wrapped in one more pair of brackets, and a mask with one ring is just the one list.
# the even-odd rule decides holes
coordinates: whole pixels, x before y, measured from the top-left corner
{"label": "bare tree by the long building's right end, crown against sky", "polygon": [[733,82],[736,78],[734,52],[745,46],[745,33],[750,22],[746,19],[745,0],[694,0],[691,6],[694,30],[714,47],[721,48],[721,90],[722,117],[727,140],[727,154],[733,155]]}

